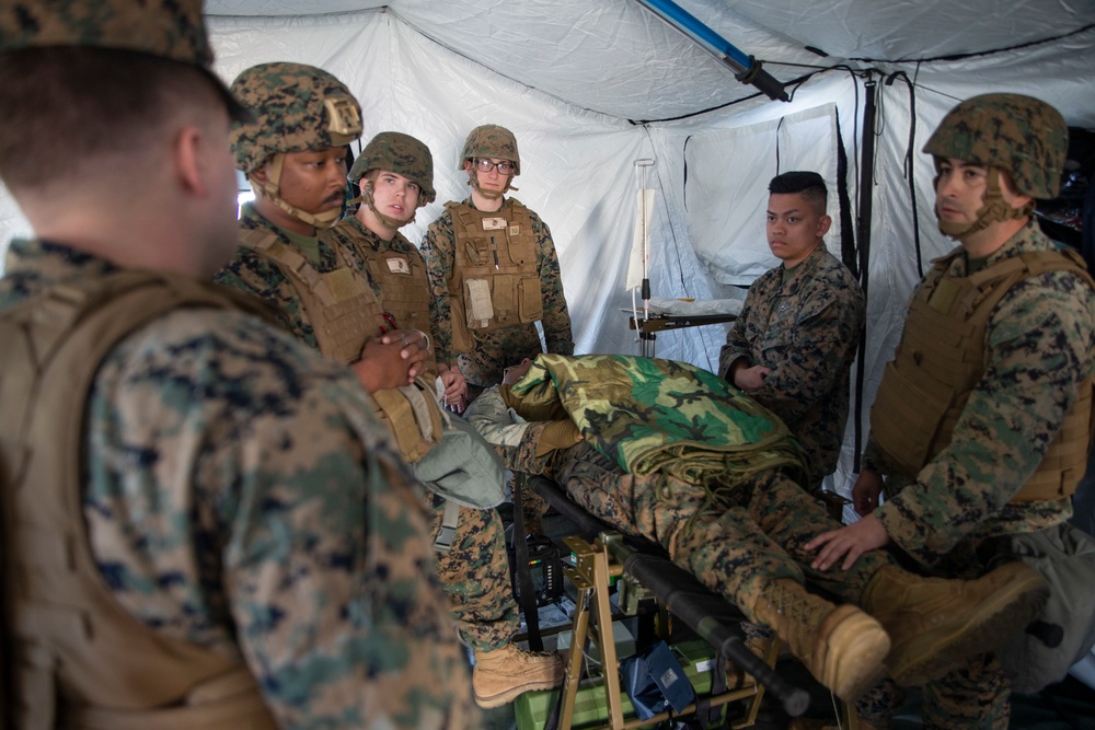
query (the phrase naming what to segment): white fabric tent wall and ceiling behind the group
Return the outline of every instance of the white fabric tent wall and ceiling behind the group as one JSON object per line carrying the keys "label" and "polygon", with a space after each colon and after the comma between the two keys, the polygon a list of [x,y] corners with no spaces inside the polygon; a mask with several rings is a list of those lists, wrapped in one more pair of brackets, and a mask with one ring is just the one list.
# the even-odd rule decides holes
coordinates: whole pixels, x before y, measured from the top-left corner
{"label": "white fabric tent wall and ceiling behind the group", "polygon": [[[830,0],[823,8],[794,0],[679,2],[764,58],[765,69],[782,80],[810,70],[783,63],[841,62],[812,55],[806,45],[844,57],[940,56],[1019,46],[1095,20],[1095,0],[1016,0],[1003,7],[989,0]],[[777,171],[821,172],[839,220],[831,155],[837,119],[853,216],[858,212],[864,89],[846,71],[811,77],[791,103],[769,102],[748,99],[754,90],[632,0],[387,4],[209,0],[217,70],[230,80],[263,61],[320,66],[362,101],[366,140],[395,129],[425,141],[435,157],[438,201],[406,229],[415,242],[442,201],[466,196],[456,166],[468,130],[488,121],[512,129],[522,163],[515,195],[552,229],[579,352],[638,351],[621,312],[632,301],[623,282],[635,222],[635,160],[657,160],[649,172],[657,194],[649,270],[658,297],[725,297],[728,282],[747,282],[774,265],[764,245],[763,204]],[[1093,28],[965,60],[848,63],[885,74],[903,71],[915,80],[912,160],[924,263],[950,244],[935,228],[934,171],[919,150],[956,100],[989,91],[1029,93],[1060,108],[1071,125],[1095,128]],[[908,85],[899,79],[879,82],[877,90],[864,425],[900,333],[904,301],[920,277],[904,176],[913,118]],[[0,188],[0,242],[5,247],[28,232]],[[839,255],[837,231],[827,243]],[[714,369],[724,334],[718,326],[659,333],[657,355]],[[837,480],[844,490],[853,449],[846,438]]]}

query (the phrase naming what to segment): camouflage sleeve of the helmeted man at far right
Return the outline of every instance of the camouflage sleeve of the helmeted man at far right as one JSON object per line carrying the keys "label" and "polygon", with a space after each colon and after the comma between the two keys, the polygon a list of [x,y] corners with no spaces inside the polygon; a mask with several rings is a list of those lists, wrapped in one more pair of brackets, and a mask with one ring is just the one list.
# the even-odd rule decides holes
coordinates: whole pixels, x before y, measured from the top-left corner
{"label": "camouflage sleeve of the helmeted man at far right", "polygon": [[984,375],[949,445],[875,512],[898,545],[932,565],[986,523],[1069,515],[1067,499],[1007,502],[1037,468],[1090,374],[1093,310],[1095,294],[1067,273],[1028,279],[1001,301],[986,334]]}

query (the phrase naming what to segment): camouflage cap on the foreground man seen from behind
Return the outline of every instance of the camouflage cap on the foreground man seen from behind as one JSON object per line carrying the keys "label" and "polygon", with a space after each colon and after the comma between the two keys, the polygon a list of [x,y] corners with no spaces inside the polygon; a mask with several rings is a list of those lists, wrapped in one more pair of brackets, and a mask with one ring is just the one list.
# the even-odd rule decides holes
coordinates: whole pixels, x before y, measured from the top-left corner
{"label": "camouflage cap on the foreground man seen from behind", "polygon": [[84,46],[195,66],[216,84],[233,119],[243,106],[212,72],[201,0],[20,0],[0,4],[0,53]]}

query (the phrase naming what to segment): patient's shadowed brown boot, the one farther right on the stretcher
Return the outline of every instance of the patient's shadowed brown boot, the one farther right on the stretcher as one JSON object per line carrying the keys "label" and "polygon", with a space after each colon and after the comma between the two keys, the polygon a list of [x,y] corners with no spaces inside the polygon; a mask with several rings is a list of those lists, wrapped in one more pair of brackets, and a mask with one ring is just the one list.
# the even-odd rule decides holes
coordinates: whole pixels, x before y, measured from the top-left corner
{"label": "patient's shadowed brown boot, the one farther right on the stretcher", "polygon": [[977,580],[921,578],[886,566],[867,583],[860,605],[890,635],[890,676],[914,686],[998,647],[1025,628],[1048,598],[1046,580],[1024,563]]}

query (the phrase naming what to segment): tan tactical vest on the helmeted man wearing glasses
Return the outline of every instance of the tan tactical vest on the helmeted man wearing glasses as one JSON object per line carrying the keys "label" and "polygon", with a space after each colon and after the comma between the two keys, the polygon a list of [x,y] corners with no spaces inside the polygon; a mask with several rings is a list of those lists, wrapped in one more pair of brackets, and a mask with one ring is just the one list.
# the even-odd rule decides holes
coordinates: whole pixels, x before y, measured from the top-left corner
{"label": "tan tactical vest on the helmeted man wearing glasses", "polygon": [[483,212],[449,201],[454,234],[452,351],[470,352],[476,334],[531,324],[543,317],[537,240],[529,209],[509,198]]}

